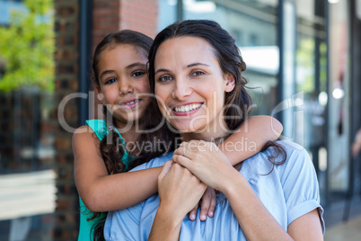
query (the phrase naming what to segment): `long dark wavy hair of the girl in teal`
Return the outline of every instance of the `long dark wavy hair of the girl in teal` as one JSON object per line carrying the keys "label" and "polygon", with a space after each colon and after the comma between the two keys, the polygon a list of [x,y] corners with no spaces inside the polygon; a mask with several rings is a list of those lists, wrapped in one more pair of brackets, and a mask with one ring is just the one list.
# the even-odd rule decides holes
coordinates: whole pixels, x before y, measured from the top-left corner
{"label": "long dark wavy hair of the girl in teal", "polygon": [[[92,61],[93,84],[97,87],[100,86],[98,65],[101,61],[101,53],[105,49],[114,49],[120,44],[129,44],[135,46],[139,54],[147,56],[152,43],[153,40],[150,37],[138,31],[123,30],[107,35],[101,40],[94,51]],[[106,106],[103,106],[103,113],[107,117],[107,120],[111,120],[107,121],[109,133],[108,135],[104,133],[104,137],[100,143],[101,156],[107,167],[108,174],[123,173],[136,165],[143,164],[154,157],[163,156],[167,151],[172,151],[174,149],[174,133],[172,133],[165,125],[157,126],[159,123],[162,123],[163,115],[159,111],[154,98],[152,98],[151,103],[149,103],[149,106],[145,109],[143,116],[138,122],[141,125],[140,129],[155,129],[155,131],[151,133],[144,132],[139,135],[137,141],[139,143],[146,143],[148,146],[147,148],[142,148],[140,150],[134,149],[133,152],[129,153],[136,157],[129,162],[127,170],[127,166],[122,161],[126,147],[119,147],[119,135],[114,128],[110,128],[110,126],[117,127],[116,121],[111,117],[111,110],[108,110]],[[96,137],[94,136],[94,138]],[[164,145],[159,145],[160,142],[164,143]],[[152,147],[149,145],[152,145]],[[101,213],[94,212],[91,218],[98,219],[98,221],[95,222],[96,224],[92,227],[94,240],[104,239],[103,228],[106,216],[102,219],[100,219],[100,217]]]}

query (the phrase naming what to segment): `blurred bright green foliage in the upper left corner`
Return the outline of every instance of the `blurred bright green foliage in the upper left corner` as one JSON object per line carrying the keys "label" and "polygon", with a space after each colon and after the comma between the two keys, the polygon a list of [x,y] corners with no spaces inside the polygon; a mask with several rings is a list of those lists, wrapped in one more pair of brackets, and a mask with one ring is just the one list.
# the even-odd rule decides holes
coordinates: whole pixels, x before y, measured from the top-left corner
{"label": "blurred bright green foliage in the upper left corner", "polygon": [[0,58],[5,62],[0,90],[24,85],[54,90],[54,17],[52,0],[25,0],[27,11],[12,13],[9,26],[0,26]]}

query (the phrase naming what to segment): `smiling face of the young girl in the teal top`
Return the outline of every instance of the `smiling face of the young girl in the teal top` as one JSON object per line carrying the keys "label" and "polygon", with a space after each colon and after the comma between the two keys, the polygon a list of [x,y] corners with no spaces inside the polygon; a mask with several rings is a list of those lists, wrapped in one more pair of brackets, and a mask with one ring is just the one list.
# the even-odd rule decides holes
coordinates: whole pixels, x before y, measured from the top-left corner
{"label": "smiling face of the young girl in the teal top", "polygon": [[97,90],[104,95],[102,103],[110,104],[120,128],[138,121],[150,103],[146,62],[145,52],[130,44],[110,46],[101,52]]}

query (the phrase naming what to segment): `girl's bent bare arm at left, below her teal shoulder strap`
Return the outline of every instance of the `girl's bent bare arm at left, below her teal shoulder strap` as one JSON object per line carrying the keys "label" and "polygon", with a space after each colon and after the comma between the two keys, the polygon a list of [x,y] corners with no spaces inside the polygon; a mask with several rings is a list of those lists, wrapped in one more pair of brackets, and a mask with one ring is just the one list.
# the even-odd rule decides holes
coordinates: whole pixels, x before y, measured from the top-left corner
{"label": "girl's bent bare arm at left, below her teal shoulder strap", "polygon": [[157,177],[162,167],[111,174],[104,165],[100,141],[88,126],[73,136],[76,188],[85,206],[92,211],[128,208],[157,192]]}

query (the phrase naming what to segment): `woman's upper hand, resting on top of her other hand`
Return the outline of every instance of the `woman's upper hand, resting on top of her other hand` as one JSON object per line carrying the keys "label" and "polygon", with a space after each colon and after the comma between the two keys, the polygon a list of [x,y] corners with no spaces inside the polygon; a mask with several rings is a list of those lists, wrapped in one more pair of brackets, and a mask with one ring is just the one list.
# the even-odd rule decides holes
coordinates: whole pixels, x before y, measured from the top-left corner
{"label": "woman's upper hand, resting on top of her other hand", "polygon": [[228,178],[237,172],[216,144],[202,140],[181,143],[174,151],[172,161],[186,167],[203,183],[220,192],[224,190]]}

